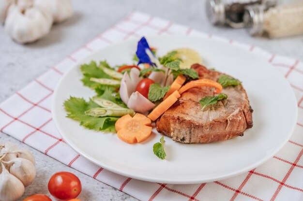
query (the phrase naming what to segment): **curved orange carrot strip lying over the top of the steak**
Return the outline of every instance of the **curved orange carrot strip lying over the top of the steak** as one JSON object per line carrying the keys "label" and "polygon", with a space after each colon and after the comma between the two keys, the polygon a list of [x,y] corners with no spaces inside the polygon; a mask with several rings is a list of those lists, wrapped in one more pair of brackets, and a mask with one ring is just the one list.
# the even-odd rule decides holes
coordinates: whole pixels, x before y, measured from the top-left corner
{"label": "curved orange carrot strip lying over the top of the steak", "polygon": [[217,83],[215,81],[208,80],[208,79],[200,79],[200,80],[191,81],[191,82],[187,83],[186,85],[182,86],[179,89],[179,93],[182,94],[186,90],[188,90],[190,88],[193,88],[193,87],[198,87],[198,86],[211,86],[211,87],[214,87],[214,88],[216,88],[216,91],[218,93],[220,93],[222,91],[222,88],[223,88],[219,83]]}

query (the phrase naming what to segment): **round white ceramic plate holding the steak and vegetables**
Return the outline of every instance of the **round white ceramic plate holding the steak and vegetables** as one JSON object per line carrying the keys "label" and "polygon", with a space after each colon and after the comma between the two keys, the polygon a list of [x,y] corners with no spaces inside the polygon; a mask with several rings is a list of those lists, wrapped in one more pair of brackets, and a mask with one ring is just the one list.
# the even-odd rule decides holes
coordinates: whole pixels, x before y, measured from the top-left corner
{"label": "round white ceramic plate holding the steak and vegetables", "polygon": [[88,99],[94,91],[82,85],[79,65],[106,59],[112,65],[132,63],[137,41],[125,41],[91,54],[61,79],[53,99],[53,118],[63,139],[81,156],[105,169],[132,178],[170,184],[225,179],[249,171],[271,158],[289,139],[297,120],[297,102],[284,77],[267,61],[236,46],[200,37],[148,37],[158,55],[179,47],[197,50],[209,68],[242,81],[254,109],[254,126],[226,142],[181,144],[165,137],[167,158],[152,152],[161,134],[141,144],[122,142],[115,133],[95,132],[69,119],[63,109],[69,96]]}

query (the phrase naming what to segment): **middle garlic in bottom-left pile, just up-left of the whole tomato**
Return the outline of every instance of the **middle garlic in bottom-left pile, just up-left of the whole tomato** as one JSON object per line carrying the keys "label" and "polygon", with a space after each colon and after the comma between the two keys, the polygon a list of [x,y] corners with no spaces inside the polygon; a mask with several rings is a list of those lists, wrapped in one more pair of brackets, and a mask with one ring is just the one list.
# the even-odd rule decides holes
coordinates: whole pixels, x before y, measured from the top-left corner
{"label": "middle garlic in bottom-left pile, just up-left of the whole tomato", "polygon": [[17,177],[25,187],[29,186],[34,181],[36,170],[30,160],[14,158],[7,163],[11,164],[10,173]]}

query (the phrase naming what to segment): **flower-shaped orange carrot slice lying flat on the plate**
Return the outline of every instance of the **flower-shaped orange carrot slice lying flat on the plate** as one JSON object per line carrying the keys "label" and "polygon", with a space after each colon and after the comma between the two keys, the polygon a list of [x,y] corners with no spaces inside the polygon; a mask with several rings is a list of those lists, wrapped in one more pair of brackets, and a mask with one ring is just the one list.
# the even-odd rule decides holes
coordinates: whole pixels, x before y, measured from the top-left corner
{"label": "flower-shaped orange carrot slice lying flat on the plate", "polygon": [[124,115],[116,121],[115,127],[118,137],[129,144],[141,143],[152,133],[151,119],[136,113],[134,117]]}

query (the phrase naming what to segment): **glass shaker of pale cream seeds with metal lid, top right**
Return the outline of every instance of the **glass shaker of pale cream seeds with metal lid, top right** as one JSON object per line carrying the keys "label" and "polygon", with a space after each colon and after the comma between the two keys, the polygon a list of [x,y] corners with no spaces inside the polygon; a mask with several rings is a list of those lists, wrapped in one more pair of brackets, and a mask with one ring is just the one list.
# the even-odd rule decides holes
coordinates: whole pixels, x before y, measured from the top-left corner
{"label": "glass shaker of pale cream seeds with metal lid, top right", "polygon": [[253,36],[269,38],[303,34],[303,3],[280,5],[270,9],[250,6],[243,16],[245,27]]}

